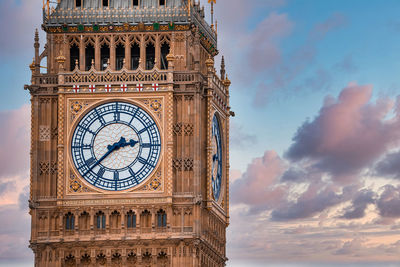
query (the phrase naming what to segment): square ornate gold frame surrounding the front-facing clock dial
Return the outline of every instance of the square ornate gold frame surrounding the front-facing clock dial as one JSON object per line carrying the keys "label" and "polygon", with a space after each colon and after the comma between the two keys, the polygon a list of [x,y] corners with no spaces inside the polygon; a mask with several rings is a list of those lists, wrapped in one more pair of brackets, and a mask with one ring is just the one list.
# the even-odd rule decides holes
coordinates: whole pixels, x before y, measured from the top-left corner
{"label": "square ornate gold frame surrounding the front-facing clock dial", "polygon": [[[67,98],[66,99],[66,103],[67,103],[67,108],[68,108],[68,103],[72,103],[74,100],[80,101],[82,103],[85,103],[84,107],[82,106],[82,111],[77,114],[74,118],[70,119],[67,118],[67,120],[69,120],[67,123],[67,129],[66,132],[68,134],[67,138],[65,138],[65,146],[67,147],[66,149],[66,156],[67,156],[67,161],[68,162],[65,166],[66,168],[69,168],[69,174],[66,175],[65,177],[65,186],[66,189],[68,189],[68,179],[72,179],[72,177],[75,177],[75,180],[79,180],[79,182],[82,183],[82,186],[85,186],[85,188],[87,190],[83,190],[84,193],[97,193],[97,194],[102,194],[102,195],[115,195],[115,194],[124,194],[124,193],[160,193],[161,191],[149,191],[149,190],[141,190],[142,187],[145,188],[150,188],[152,187],[151,184],[149,184],[149,181],[153,179],[153,177],[157,176],[158,180],[157,182],[160,182],[163,184],[162,186],[162,193],[164,193],[165,190],[165,182],[166,179],[164,177],[164,155],[165,155],[165,144],[164,144],[164,134],[165,134],[165,119],[160,119],[158,116],[156,116],[156,113],[153,112],[152,110],[150,110],[150,108],[148,106],[146,106],[145,103],[143,103],[143,101],[148,101],[148,100],[157,100],[161,103],[161,105],[164,105],[165,100],[163,96],[144,96],[144,97],[113,97],[110,96],[108,98],[104,98],[104,97],[99,97],[99,98],[90,98],[90,97],[71,97],[71,98]],[[80,121],[89,113],[91,112],[94,108],[99,107],[103,104],[107,104],[107,103],[112,103],[112,102],[122,102],[122,103],[128,103],[128,104],[132,104],[134,106],[137,106],[139,108],[141,108],[143,111],[145,111],[148,116],[151,117],[151,119],[155,122],[156,127],[158,128],[159,134],[160,134],[160,143],[161,143],[161,149],[160,149],[160,154],[159,154],[159,158],[158,158],[158,162],[156,164],[156,166],[153,168],[153,170],[147,175],[147,177],[145,179],[143,179],[143,181],[141,181],[139,184],[130,187],[128,189],[125,190],[120,190],[120,191],[112,191],[112,190],[106,190],[106,189],[102,189],[99,188],[97,186],[92,185],[90,182],[88,182],[84,177],[82,177],[82,175],[78,172],[78,170],[76,169],[76,166],[74,164],[74,159],[72,157],[72,149],[71,149],[71,145],[72,145],[72,138],[74,136],[76,127],[78,126],[78,124],[80,123]],[[71,106],[72,109],[72,106]],[[71,113],[71,112],[67,112],[67,113]],[[164,109],[161,111],[161,113],[164,115],[165,114],[165,106]],[[69,116],[71,114],[68,114],[67,116]],[[164,116],[162,116],[164,117]],[[68,173],[68,170],[66,169],[66,174]],[[67,177],[68,176],[68,177]],[[71,182],[71,181],[70,181]],[[71,193],[68,193],[68,190],[65,191],[66,195],[71,195]],[[72,195],[76,195],[74,193],[72,193]]]}

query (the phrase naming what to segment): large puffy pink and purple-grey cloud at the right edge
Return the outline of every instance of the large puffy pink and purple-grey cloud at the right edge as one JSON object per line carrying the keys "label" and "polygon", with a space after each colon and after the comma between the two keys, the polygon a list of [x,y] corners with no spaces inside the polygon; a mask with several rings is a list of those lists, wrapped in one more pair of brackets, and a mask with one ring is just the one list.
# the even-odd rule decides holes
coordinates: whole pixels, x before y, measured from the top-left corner
{"label": "large puffy pink and purple-grey cloud at the right edge", "polygon": [[338,99],[327,97],[314,120],[306,121],[285,156],[307,161],[335,179],[348,179],[372,164],[400,137],[399,114],[390,99],[370,103],[372,86],[350,84]]}

